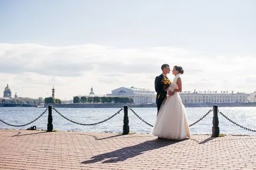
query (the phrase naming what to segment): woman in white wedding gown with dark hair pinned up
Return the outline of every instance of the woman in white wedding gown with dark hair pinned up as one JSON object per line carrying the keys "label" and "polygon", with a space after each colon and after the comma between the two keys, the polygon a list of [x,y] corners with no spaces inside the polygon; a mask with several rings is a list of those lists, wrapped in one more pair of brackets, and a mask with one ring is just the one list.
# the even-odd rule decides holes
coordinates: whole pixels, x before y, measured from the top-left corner
{"label": "woman in white wedding gown with dark hair pinned up", "polygon": [[178,92],[182,91],[182,82],[180,75],[183,74],[181,66],[174,66],[172,74],[175,75],[168,91],[175,92],[167,96],[160,107],[155,126],[151,134],[165,139],[186,139],[191,137],[188,118],[186,116],[185,106]]}

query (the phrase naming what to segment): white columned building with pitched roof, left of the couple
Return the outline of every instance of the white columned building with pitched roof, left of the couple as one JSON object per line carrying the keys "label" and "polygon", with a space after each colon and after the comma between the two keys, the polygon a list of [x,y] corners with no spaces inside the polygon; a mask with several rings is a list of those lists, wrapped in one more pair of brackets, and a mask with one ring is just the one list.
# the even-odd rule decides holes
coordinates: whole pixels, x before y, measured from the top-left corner
{"label": "white columned building with pitched roof, left of the couple", "polygon": [[150,91],[149,89],[141,88],[124,88],[120,87],[113,89],[111,94],[107,94],[111,97],[129,97],[133,99],[134,104],[151,104],[156,102],[155,91]]}

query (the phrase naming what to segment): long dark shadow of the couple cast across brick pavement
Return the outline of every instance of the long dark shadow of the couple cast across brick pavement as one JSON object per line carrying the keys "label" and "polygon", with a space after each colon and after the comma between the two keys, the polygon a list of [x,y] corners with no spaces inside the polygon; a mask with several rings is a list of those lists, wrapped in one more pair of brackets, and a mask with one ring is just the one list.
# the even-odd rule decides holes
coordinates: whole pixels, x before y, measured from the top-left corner
{"label": "long dark shadow of the couple cast across brick pavement", "polygon": [[180,141],[173,141],[168,139],[154,139],[151,141],[146,141],[141,144],[133,145],[133,146],[127,146],[122,149],[118,149],[113,152],[107,152],[105,154],[100,154],[91,157],[90,160],[81,162],[82,164],[92,164],[95,162],[103,161],[103,163],[110,163],[110,162],[119,162],[119,161],[125,161],[128,158],[132,158],[134,156],[143,154],[146,151],[154,150],[157,148],[162,148],[164,146],[176,144]]}

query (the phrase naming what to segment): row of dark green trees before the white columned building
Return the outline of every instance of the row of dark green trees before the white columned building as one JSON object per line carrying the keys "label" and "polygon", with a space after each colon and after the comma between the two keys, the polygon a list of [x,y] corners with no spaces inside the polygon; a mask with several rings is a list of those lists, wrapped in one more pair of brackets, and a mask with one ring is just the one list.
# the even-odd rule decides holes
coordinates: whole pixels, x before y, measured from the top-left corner
{"label": "row of dark green trees before the white columned building", "polygon": [[133,99],[132,98],[127,98],[127,97],[99,97],[99,96],[94,96],[94,97],[86,97],[86,96],[74,96],[73,98],[73,103],[74,104],[91,104],[91,103],[103,103],[103,104],[133,104]]}

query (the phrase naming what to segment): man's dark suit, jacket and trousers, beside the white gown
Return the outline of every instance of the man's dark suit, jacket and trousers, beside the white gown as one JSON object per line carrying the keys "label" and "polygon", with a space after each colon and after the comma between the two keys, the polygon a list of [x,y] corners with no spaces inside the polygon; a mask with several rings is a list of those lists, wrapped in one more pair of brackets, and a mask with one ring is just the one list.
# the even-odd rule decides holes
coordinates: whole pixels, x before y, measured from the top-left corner
{"label": "man's dark suit, jacket and trousers, beside the white gown", "polygon": [[163,89],[163,84],[161,82],[163,78],[168,78],[168,77],[161,74],[159,76],[156,76],[156,78],[155,78],[157,114],[158,114],[160,106],[161,106],[161,104],[162,104],[162,102],[165,99],[166,94],[167,94],[165,89]]}

